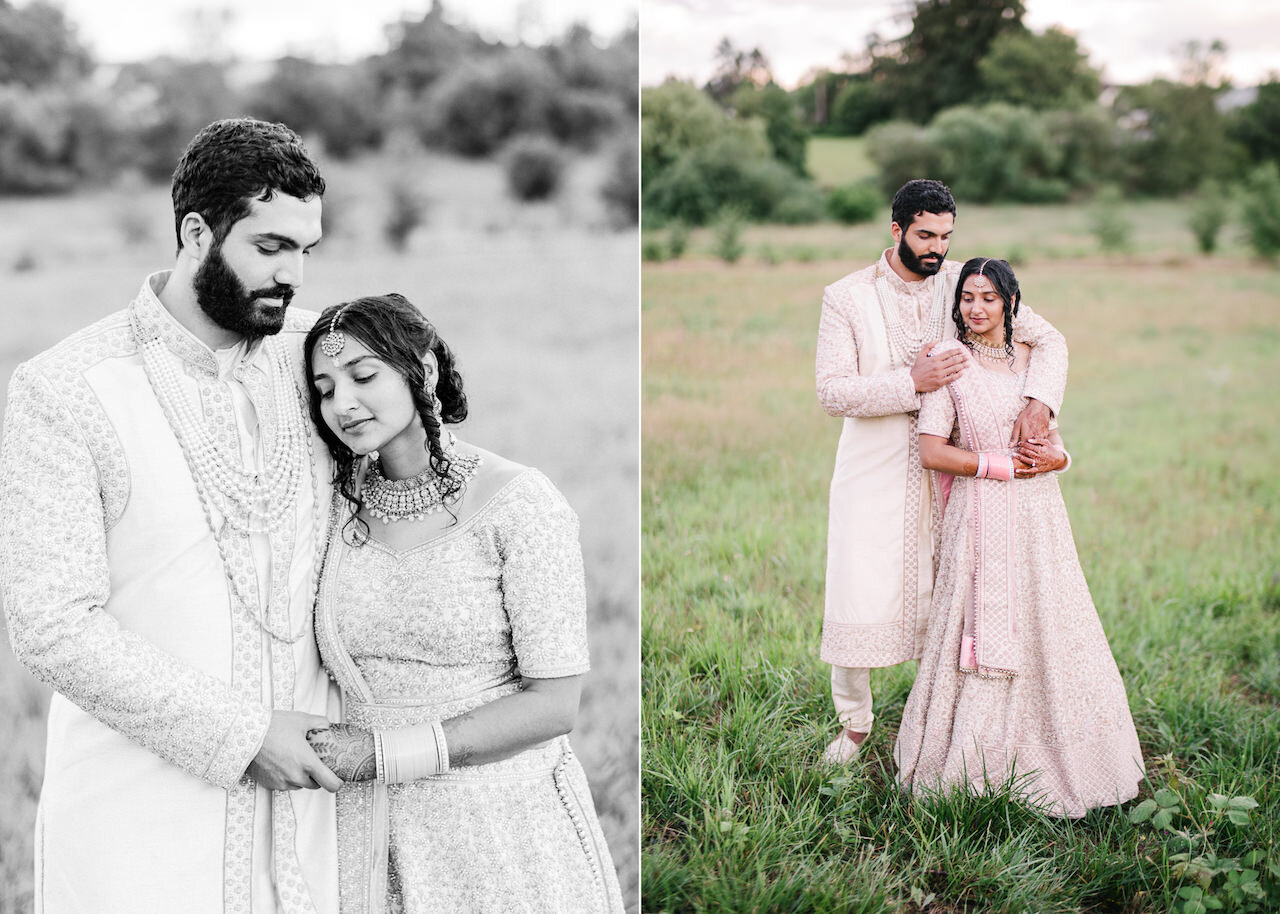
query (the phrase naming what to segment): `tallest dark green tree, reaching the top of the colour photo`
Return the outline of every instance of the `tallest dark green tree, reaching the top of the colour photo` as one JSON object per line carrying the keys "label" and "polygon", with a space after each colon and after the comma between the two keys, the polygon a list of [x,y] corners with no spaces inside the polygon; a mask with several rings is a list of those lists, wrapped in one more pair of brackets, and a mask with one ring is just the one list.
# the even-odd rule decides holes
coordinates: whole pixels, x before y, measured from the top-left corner
{"label": "tallest dark green tree, reaching the top of the colour photo", "polygon": [[876,52],[872,76],[887,83],[900,116],[924,123],[980,97],[978,61],[998,36],[1027,31],[1025,13],[1021,0],[919,0],[910,35]]}

